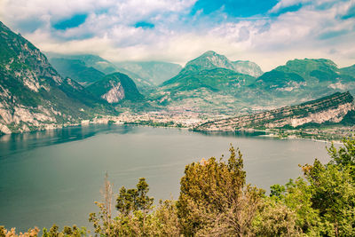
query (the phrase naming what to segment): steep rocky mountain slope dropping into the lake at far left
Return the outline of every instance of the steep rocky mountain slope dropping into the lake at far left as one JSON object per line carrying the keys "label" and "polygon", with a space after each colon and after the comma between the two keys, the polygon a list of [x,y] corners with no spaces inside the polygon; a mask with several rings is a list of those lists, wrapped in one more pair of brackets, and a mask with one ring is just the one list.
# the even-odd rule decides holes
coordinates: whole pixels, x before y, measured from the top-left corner
{"label": "steep rocky mountain slope dropping into the lake at far left", "polygon": [[32,43],[0,22],[0,131],[78,122],[113,108],[63,79]]}

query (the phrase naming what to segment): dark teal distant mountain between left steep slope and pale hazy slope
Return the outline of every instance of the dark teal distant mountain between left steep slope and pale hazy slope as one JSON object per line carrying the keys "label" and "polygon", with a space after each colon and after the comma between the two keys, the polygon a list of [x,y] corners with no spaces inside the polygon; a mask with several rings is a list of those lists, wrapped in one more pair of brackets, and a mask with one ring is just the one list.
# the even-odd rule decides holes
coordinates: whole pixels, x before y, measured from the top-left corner
{"label": "dark teal distant mountain between left steep slope and pale hazy slope", "polygon": [[87,67],[85,63],[79,59],[52,58],[50,62],[60,75],[70,77],[83,85],[97,82],[105,75],[94,67]]}

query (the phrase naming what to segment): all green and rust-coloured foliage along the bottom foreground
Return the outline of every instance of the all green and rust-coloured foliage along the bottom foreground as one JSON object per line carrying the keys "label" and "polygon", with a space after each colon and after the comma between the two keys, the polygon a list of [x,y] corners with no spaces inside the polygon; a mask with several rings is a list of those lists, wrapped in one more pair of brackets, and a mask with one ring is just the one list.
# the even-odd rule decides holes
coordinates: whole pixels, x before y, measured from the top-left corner
{"label": "all green and rust-coloured foliage along the bottom foreground", "polygon": [[[177,201],[148,196],[145,178],[135,188],[122,186],[112,214],[112,185],[107,180],[104,201],[90,221],[99,236],[355,236],[355,140],[327,148],[331,161],[302,166],[303,177],[274,185],[269,196],[246,184],[242,155],[214,157],[185,167]],[[9,234],[10,233],[10,234]],[[16,235],[0,227],[3,236],[36,236],[38,229]],[[85,229],[58,226],[43,236],[86,236]]]}

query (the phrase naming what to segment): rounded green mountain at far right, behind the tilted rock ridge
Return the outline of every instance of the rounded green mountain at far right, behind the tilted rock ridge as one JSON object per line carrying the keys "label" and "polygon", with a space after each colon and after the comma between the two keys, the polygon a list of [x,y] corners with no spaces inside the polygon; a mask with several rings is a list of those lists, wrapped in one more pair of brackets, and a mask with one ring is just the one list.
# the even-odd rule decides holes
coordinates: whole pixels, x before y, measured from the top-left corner
{"label": "rounded green mountain at far right, behind the tilted rock ridge", "polygon": [[329,59],[293,59],[256,78],[256,83],[244,88],[241,100],[253,106],[282,107],[336,91],[355,93],[355,77]]}

